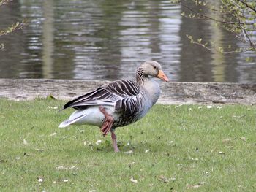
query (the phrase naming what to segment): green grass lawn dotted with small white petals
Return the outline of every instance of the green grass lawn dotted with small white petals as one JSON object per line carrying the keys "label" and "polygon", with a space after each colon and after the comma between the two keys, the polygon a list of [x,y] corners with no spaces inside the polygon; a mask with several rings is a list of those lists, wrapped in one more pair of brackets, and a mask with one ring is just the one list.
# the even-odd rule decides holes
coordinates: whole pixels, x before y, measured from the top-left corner
{"label": "green grass lawn dotted with small white petals", "polygon": [[59,129],[63,104],[0,100],[0,191],[256,191],[255,106],[156,105],[113,153],[97,127]]}

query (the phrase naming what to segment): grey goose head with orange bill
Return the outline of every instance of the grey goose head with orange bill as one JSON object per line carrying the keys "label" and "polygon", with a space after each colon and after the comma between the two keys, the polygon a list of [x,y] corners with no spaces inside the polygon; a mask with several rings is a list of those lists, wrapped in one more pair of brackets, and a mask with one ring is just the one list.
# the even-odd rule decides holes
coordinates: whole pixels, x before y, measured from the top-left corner
{"label": "grey goose head with orange bill", "polygon": [[157,61],[146,61],[141,64],[137,70],[137,80],[143,80],[143,77],[157,77],[166,82],[169,81],[165,73],[162,71],[162,66]]}

